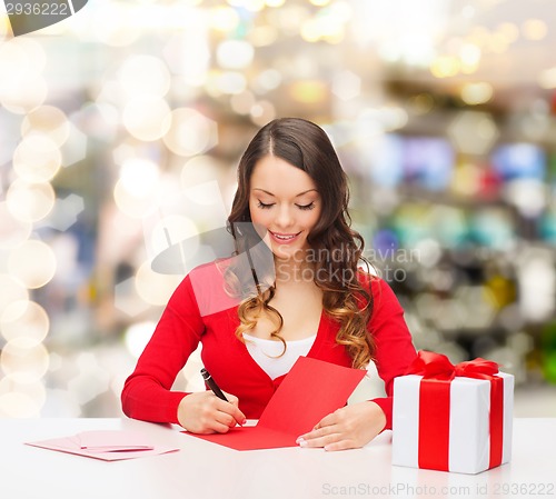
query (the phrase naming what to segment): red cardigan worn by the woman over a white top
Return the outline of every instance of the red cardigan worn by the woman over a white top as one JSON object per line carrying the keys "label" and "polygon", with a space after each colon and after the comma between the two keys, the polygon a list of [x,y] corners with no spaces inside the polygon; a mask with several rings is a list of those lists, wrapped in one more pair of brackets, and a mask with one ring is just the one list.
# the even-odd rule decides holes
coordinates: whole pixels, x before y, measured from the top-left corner
{"label": "red cardigan worn by the woman over a white top", "polygon": [[[145,348],[121,395],[123,412],[130,418],[153,422],[178,422],[178,406],[187,396],[171,387],[187,359],[202,343],[201,359],[224,391],[239,399],[249,419],[258,419],[287,375],[272,380],[235,336],[239,325],[237,302],[215,286],[216,267],[193,270],[178,286]],[[221,279],[221,278],[220,278]],[[376,343],[375,362],[385,382],[387,397],[374,399],[391,428],[393,380],[405,372],[416,356],[404,310],[390,287],[381,279],[370,280],[374,306],[368,330]],[[368,288],[367,288],[368,289]],[[350,367],[344,346],[336,343],[339,325],[322,312],[315,342],[307,357]]]}

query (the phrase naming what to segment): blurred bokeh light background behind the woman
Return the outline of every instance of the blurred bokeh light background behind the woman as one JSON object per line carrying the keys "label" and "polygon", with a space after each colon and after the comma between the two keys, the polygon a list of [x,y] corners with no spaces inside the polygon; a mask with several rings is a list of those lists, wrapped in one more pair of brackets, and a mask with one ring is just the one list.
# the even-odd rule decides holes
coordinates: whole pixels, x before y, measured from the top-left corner
{"label": "blurred bokeh light background behind the woman", "polygon": [[90,0],[18,38],[0,12],[0,417],[121,415],[182,278],[151,262],[222,227],[284,116],[332,138],[416,346],[556,416],[554,47],[550,0]]}

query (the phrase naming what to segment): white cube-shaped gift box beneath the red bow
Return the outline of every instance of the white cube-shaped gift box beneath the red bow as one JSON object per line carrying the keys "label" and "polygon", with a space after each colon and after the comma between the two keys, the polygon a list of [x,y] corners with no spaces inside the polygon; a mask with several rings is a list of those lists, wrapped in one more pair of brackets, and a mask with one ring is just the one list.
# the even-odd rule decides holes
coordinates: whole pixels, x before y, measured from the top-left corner
{"label": "white cube-shaped gift box beneath the red bow", "polygon": [[[478,473],[486,469],[503,465],[512,456],[512,419],[514,407],[514,376],[498,372],[495,377],[503,379],[502,418],[495,425],[502,428],[502,462],[490,462],[490,381],[455,377],[451,380],[430,380],[423,376],[408,375],[394,380],[393,409],[393,465],[414,468],[430,468],[460,473]],[[419,412],[427,411],[435,418],[435,403],[429,408],[420,408],[421,390],[427,390],[430,381],[449,383],[449,416],[446,421],[448,431],[447,462],[444,447],[438,443],[434,432],[419,441]],[[423,387],[421,387],[421,383]],[[428,385],[430,386],[430,385]],[[434,399],[433,399],[434,400]],[[446,403],[446,401],[444,401]],[[499,408],[498,408],[499,409]],[[421,428],[423,430],[423,428]],[[499,435],[499,428],[497,429]],[[424,465],[423,453],[444,465]],[[437,456],[438,455],[438,456]],[[499,456],[499,449],[498,449]]]}

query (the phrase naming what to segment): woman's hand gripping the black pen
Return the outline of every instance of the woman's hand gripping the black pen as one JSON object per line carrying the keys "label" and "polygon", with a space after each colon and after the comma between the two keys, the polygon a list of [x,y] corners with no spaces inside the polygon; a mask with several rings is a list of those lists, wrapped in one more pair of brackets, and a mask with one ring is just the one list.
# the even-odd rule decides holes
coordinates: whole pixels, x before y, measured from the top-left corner
{"label": "woman's hand gripping the black pen", "polygon": [[229,400],[219,399],[211,391],[189,393],[178,406],[178,421],[192,433],[226,433],[236,425],[246,422],[238,408],[238,398],[226,393]]}

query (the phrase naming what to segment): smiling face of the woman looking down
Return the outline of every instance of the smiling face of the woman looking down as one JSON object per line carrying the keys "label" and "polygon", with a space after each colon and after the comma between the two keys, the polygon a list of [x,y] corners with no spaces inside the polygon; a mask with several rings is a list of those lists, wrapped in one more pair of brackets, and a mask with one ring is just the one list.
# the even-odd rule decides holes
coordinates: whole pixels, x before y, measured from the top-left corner
{"label": "smiling face of the woman looking down", "polygon": [[307,236],[320,217],[321,199],[305,171],[267,154],[251,174],[249,211],[254,224],[266,229],[265,240],[277,258],[302,258],[309,248]]}

